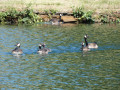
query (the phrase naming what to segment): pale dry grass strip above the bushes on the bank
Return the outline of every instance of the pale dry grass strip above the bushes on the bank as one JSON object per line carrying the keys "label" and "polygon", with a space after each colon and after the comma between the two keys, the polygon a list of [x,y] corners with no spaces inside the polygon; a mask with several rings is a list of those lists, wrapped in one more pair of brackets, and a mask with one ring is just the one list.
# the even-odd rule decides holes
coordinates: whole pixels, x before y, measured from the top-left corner
{"label": "pale dry grass strip above the bushes on the bank", "polygon": [[32,9],[40,12],[48,9],[72,12],[72,7],[84,7],[97,13],[120,11],[120,0],[0,0],[0,10],[12,7],[22,10],[30,3]]}

